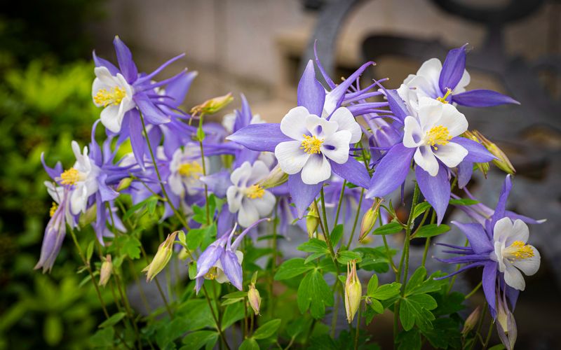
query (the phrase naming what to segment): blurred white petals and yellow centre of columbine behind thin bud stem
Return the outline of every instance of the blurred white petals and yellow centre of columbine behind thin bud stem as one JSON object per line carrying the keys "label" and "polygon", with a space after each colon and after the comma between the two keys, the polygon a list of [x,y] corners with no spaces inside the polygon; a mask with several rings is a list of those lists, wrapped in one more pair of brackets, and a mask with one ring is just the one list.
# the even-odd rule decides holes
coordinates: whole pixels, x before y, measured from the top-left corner
{"label": "blurred white petals and yellow centre of columbine behind thin bud stem", "polygon": [[[205,164],[209,164],[208,158],[205,158]],[[203,188],[201,176],[203,176],[203,160],[198,146],[189,144],[183,149],[177,148],[170,162],[168,178],[172,192],[180,197],[183,197],[186,192],[189,195],[198,193]]]}

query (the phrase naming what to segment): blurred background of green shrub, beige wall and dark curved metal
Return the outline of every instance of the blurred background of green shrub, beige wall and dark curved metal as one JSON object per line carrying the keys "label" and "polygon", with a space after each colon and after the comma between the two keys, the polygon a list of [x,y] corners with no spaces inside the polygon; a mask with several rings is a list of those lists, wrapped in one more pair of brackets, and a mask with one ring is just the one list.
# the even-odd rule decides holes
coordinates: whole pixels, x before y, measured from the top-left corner
{"label": "blurred background of green shrub, beige wall and dark curved metal", "polygon": [[[270,122],[295,106],[314,39],[333,78],[372,59],[377,66],[367,78],[389,76],[392,88],[424,60],[444,59],[450,48],[469,43],[468,88],[510,94],[522,105],[463,112],[518,171],[510,209],[548,218],[532,228],[542,267],[527,279],[515,314],[518,346],[559,349],[560,16],[561,3],[553,0],[3,0],[0,349],[83,349],[102,319],[93,288],[74,274],[78,258],[69,244],[51,274],[33,267],[50,208],[41,152],[50,165],[69,165],[70,141],[88,142],[100,112],[90,97],[91,52],[114,61],[116,34],[142,71],[187,53],[168,70],[171,76],[187,66],[199,73],[187,109],[227,92],[236,97],[234,109],[243,92],[252,111]],[[493,207],[503,174],[479,180],[471,190]],[[377,334],[391,328],[389,318],[385,323],[372,323],[374,339],[383,342]]]}

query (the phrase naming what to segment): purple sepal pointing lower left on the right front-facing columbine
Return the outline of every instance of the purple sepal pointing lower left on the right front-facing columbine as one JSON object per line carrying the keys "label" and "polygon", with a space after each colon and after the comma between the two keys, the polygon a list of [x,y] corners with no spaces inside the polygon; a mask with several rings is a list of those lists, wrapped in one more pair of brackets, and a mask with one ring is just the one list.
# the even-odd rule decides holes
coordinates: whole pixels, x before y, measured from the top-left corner
{"label": "purple sepal pointing lower left on the right front-facing columbine", "polygon": [[370,188],[366,197],[384,197],[398,188],[409,173],[414,153],[415,148],[407,148],[403,144],[396,144],[390,148],[378,163],[370,179]]}

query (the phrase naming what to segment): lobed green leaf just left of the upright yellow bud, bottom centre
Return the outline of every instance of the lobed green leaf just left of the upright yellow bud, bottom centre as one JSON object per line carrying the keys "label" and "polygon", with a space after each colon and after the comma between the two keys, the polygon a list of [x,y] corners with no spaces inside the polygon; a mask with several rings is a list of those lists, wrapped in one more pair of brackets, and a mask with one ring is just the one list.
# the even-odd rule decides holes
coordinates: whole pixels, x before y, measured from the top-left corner
{"label": "lobed green leaf just left of the upright yellow bud, bottom centre", "polygon": [[325,316],[325,306],[333,306],[333,294],[318,270],[304,276],[297,293],[297,304],[300,312],[310,309],[313,318]]}

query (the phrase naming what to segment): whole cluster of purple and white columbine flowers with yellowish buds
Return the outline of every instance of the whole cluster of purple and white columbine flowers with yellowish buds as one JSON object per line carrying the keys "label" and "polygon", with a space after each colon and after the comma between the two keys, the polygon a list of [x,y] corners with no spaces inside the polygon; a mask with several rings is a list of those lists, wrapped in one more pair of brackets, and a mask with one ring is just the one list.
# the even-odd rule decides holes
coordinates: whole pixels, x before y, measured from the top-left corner
{"label": "whole cluster of purple and white columbine flowers with yellowish buds", "polygon": [[[183,55],[170,59],[152,73],[141,73],[119,37],[114,46],[118,66],[93,55],[92,99],[101,111],[100,120],[93,125],[89,146],[81,149],[73,141],[76,162],[65,170],[60,163],[50,168],[43,161],[52,179],[46,187],[54,201],[36,265],[43,272],[53,267],[67,227],[77,230],[91,224],[100,246],[111,245],[123,235],[133,235],[130,225],[124,225],[121,218],[129,218],[131,212],[146,206],[158,214],[160,222],[173,221],[170,225],[176,230],[163,241],[154,260],[144,269],[149,281],[164,269],[173,255],[173,246],[179,244],[183,246],[182,254],[190,258],[196,269],[189,275],[195,280],[197,293],[205,286],[205,280],[229,281],[243,290],[241,243],[252,236],[245,237],[248,233],[257,231],[259,223],[274,216],[274,235],[286,235],[293,224],[304,232],[307,230],[311,242],[320,247],[309,251],[314,253],[310,260],[330,253],[332,271],[337,274],[339,263],[347,265],[344,288],[334,290],[344,291],[346,316],[351,323],[363,300],[357,269],[362,266],[360,259],[364,255],[360,248],[349,251],[351,243],[355,243],[353,235],[360,214],[365,214],[358,237],[361,244],[367,243],[372,230],[376,235],[405,230],[403,253],[408,254],[415,208],[405,225],[391,202],[386,205],[384,197],[398,188],[403,194],[411,172],[417,194],[414,204],[420,192],[429,208],[423,222],[432,211],[432,224],[438,227],[450,200],[459,200],[452,193],[455,186],[475,201],[466,188],[474,169],[482,169],[483,165],[488,168],[487,163],[494,161],[505,164],[501,169],[513,171],[496,145],[480,133],[468,130],[468,120],[459,106],[518,102],[498,92],[466,90],[470,76],[465,69],[465,45],[450,50],[444,64],[429,59],[396,90],[384,87],[384,80],[361,87],[360,76],[373,62],[363,64],[337,85],[316,57],[315,62],[308,62],[299,80],[297,105],[286,112],[280,123],[265,123],[260,116],[253,115],[242,95],[241,110],[225,116],[222,124],[203,120],[224,109],[231,102],[231,94],[210,99],[189,114],[180,106],[196,72],[184,70],[171,78],[154,80]],[[326,86],[316,79],[316,69]],[[95,139],[100,124],[107,135],[101,146]],[[127,149],[131,152],[123,151]],[[455,273],[483,267],[485,297],[492,316],[498,320],[501,339],[509,348],[515,340],[509,310],[514,307],[518,291],[525,289],[522,272],[532,275],[540,263],[539,252],[527,243],[526,225],[540,221],[506,211],[510,190],[509,175],[494,210],[478,202],[458,204],[473,219],[472,223],[453,222],[464,232],[469,245],[447,246],[450,250],[444,253],[459,256],[437,258],[466,264]],[[120,208],[123,198],[130,198],[129,211]],[[326,212],[331,214],[330,218]],[[238,225],[244,228],[241,234],[237,232]],[[374,229],[376,225],[381,226],[379,230]],[[349,243],[343,242],[337,248],[344,233],[336,234],[336,229],[331,232],[329,228],[339,226],[353,229],[345,229],[351,232]],[[319,228],[323,237],[318,234]],[[197,235],[205,235],[204,241]],[[387,244],[386,250],[391,259]],[[115,268],[111,255],[107,257],[102,267],[102,286]],[[315,267],[315,272],[306,275],[302,283],[311,283],[306,278],[316,278],[320,266],[323,265]],[[399,284],[402,264],[399,269],[393,268],[399,270]],[[405,276],[406,269],[407,265]],[[309,270],[305,267],[302,272]],[[261,297],[255,276],[249,302],[257,315]],[[372,307],[378,307],[375,288],[368,283],[365,296],[369,304],[374,303]],[[400,297],[404,298],[405,293],[407,289]],[[325,304],[329,305],[327,299]],[[305,302],[302,305],[305,307]],[[320,309],[313,309],[312,314]],[[406,328],[407,322],[401,321]]]}

